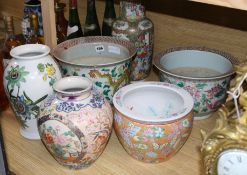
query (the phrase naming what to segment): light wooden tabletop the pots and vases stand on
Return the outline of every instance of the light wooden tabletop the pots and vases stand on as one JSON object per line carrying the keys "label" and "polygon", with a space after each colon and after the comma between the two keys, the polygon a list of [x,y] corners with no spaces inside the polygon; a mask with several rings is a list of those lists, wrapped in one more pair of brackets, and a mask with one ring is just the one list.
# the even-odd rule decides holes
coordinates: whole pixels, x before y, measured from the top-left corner
{"label": "light wooden tabletop the pots and vases stand on", "polygon": [[[152,73],[147,80],[157,80],[157,75]],[[158,164],[143,163],[130,157],[113,131],[99,159],[81,170],[70,170],[58,164],[40,140],[23,138],[11,109],[2,112],[1,125],[9,168],[17,175],[200,175],[203,174],[200,130],[211,130],[216,117],[213,114],[208,119],[195,120],[192,133],[182,149],[168,161]]]}

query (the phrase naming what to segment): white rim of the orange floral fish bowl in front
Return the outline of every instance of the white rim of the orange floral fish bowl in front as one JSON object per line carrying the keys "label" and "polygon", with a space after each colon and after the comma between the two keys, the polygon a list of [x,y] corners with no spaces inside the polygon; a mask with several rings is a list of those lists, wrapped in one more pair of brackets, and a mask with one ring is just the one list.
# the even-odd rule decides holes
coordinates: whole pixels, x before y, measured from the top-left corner
{"label": "white rim of the orange floral fish bowl in front", "polygon": [[[161,87],[175,92],[178,96],[180,96],[183,99],[184,108],[180,111],[180,113],[169,118],[163,117],[162,119],[159,118],[157,120],[154,119],[140,120],[134,114],[128,112],[128,110],[126,110],[125,107],[121,106],[117,101],[119,96],[121,96],[120,98],[122,99],[124,95],[127,94],[128,92],[143,87]],[[176,85],[165,82],[158,82],[158,81],[146,81],[146,82],[136,82],[120,88],[113,96],[113,105],[115,110],[117,110],[118,112],[129,118],[130,120],[134,120],[135,122],[145,123],[145,124],[164,124],[164,123],[167,124],[186,117],[190,112],[192,112],[193,115],[194,100],[193,97],[186,90],[177,87]]]}

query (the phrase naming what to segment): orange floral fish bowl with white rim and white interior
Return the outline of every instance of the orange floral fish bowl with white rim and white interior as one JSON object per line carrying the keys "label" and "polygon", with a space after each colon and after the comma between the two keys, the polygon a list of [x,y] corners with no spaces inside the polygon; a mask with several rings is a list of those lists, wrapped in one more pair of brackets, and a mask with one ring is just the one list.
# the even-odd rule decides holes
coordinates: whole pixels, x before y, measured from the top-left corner
{"label": "orange floral fish bowl with white rim and white interior", "polygon": [[193,125],[193,98],[182,88],[163,82],[138,82],[113,97],[114,129],[133,158],[166,161],[188,139]]}

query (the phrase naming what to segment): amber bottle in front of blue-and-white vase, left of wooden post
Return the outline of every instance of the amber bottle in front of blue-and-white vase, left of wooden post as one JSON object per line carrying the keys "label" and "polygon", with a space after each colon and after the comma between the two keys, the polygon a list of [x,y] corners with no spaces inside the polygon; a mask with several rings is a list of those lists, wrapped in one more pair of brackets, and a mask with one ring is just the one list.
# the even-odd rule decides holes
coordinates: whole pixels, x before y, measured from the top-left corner
{"label": "amber bottle in front of blue-and-white vase, left of wooden post", "polygon": [[27,44],[43,44],[41,37],[38,36],[39,33],[39,22],[38,15],[36,13],[30,13],[30,38]]}

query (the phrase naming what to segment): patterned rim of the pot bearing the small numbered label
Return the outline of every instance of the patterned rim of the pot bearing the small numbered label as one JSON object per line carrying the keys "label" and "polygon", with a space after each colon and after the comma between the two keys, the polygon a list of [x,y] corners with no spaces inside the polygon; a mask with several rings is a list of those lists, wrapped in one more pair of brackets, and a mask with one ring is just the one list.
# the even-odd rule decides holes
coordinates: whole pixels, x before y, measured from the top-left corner
{"label": "patterned rim of the pot bearing the small numbered label", "polygon": [[[126,58],[121,59],[120,61],[115,61],[115,62],[111,62],[111,63],[104,63],[104,64],[76,64],[76,63],[71,63],[69,61],[66,61],[64,59],[59,58],[58,54],[57,54],[57,50],[62,49],[68,49],[70,47],[65,47],[65,45],[70,45],[70,43],[72,44],[70,47],[76,46],[78,44],[102,44],[102,43],[112,43],[115,45],[119,45],[121,47],[126,48],[129,51],[129,56],[127,56]],[[125,45],[123,45],[122,43],[125,43]],[[74,44],[74,45],[73,45]],[[112,66],[112,65],[118,65],[121,63],[124,63],[128,60],[131,60],[135,57],[136,55],[136,47],[135,45],[128,41],[128,40],[124,40],[124,39],[119,39],[119,38],[114,38],[114,37],[110,37],[110,36],[86,36],[86,37],[79,37],[79,38],[74,38],[74,39],[69,39],[66,40],[60,44],[58,44],[56,47],[54,47],[52,49],[51,52],[52,56],[55,57],[58,61],[64,63],[64,64],[68,64],[68,65],[72,65],[72,66],[79,66],[79,67],[85,67],[85,68],[97,68],[97,67],[108,67],[108,66]]]}

